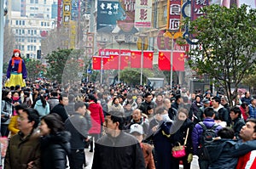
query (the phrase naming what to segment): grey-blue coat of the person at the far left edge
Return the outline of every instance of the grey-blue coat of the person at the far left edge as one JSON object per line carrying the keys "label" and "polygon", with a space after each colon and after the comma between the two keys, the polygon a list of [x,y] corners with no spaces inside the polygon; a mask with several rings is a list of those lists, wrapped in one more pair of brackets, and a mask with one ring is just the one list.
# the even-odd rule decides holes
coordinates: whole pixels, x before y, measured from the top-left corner
{"label": "grey-blue coat of the person at the far left edge", "polygon": [[14,112],[14,105],[11,102],[11,99],[2,100],[2,108],[1,108],[1,115],[4,117],[9,117],[9,119],[5,122],[1,121],[1,124],[8,125],[10,122],[10,117],[13,115]]}

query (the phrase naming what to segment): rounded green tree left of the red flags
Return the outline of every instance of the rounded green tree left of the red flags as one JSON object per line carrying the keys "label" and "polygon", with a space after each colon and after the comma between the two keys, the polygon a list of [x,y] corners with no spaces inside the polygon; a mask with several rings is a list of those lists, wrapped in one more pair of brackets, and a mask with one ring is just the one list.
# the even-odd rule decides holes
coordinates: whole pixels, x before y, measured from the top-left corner
{"label": "rounded green tree left of the red flags", "polygon": [[[84,70],[84,62],[81,64],[79,58],[83,57],[82,50],[58,49],[46,56],[49,68],[47,76],[49,79],[62,82],[76,82],[81,80]],[[80,75],[80,76],[79,76]]]}

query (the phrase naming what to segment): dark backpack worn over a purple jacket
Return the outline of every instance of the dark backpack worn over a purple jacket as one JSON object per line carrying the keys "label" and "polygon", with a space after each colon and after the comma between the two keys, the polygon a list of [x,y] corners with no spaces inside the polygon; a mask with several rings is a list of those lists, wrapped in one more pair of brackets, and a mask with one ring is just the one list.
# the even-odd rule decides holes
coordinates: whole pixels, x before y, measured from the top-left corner
{"label": "dark backpack worn over a purple jacket", "polygon": [[201,160],[211,161],[210,154],[207,151],[207,146],[211,145],[214,141],[214,138],[217,137],[217,133],[215,132],[215,130],[219,125],[214,124],[211,128],[207,128],[202,121],[198,124],[203,128],[203,132],[200,138],[201,148],[198,151],[198,156],[201,158]]}

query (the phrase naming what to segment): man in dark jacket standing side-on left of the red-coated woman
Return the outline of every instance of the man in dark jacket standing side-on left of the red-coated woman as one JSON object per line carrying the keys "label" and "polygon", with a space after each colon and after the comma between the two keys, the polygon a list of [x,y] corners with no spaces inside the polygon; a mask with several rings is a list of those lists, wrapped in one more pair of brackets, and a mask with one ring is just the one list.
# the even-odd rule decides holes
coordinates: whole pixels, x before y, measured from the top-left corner
{"label": "man in dark jacket standing side-on left of the red-coated woman", "polygon": [[85,164],[84,146],[88,141],[88,122],[84,118],[85,104],[81,101],[74,104],[75,112],[65,122],[65,130],[71,133],[71,154],[68,156],[71,169],[83,169]]}

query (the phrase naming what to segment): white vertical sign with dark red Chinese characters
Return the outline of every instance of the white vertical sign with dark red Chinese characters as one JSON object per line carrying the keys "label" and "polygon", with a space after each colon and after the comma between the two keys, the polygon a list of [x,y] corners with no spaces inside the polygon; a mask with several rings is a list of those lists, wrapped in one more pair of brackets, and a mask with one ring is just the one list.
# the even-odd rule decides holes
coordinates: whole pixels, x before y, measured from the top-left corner
{"label": "white vertical sign with dark red Chinese characters", "polygon": [[135,26],[151,27],[152,0],[136,0]]}

